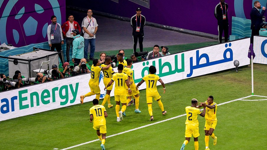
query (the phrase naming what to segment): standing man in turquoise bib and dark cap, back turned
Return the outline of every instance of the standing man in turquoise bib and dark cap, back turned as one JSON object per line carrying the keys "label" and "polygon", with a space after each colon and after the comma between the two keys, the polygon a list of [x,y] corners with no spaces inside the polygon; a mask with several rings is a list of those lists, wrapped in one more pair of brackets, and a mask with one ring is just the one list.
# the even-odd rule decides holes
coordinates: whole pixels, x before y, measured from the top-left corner
{"label": "standing man in turquoise bib and dark cap, back turned", "polygon": [[80,31],[78,29],[72,30],[72,32],[74,36],[72,42],[72,62],[75,67],[78,66],[84,55],[84,38],[80,36]]}

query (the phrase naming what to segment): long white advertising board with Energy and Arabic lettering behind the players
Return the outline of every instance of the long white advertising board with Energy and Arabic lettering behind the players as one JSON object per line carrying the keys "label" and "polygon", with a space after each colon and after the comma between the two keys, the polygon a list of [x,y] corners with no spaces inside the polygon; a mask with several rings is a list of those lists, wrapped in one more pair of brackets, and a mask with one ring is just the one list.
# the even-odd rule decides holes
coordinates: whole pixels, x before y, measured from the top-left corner
{"label": "long white advertising board with Energy and Arabic lettering behind the players", "polygon": [[[250,39],[244,38],[137,62],[132,66],[134,80],[136,84],[139,83],[144,75],[149,73],[150,65],[156,66],[156,74],[164,83],[231,69],[235,67],[234,60],[238,60],[240,66],[249,65],[250,59],[247,55],[249,45]],[[117,68],[114,68],[114,71],[117,72]],[[0,121],[79,104],[80,95],[90,91],[89,79],[90,74],[83,74],[1,92]],[[106,92],[102,72],[99,81],[100,98],[104,98]],[[140,86],[140,90],[145,88],[146,84]],[[167,93],[168,90],[170,89],[167,88]],[[113,91],[111,96],[114,95]],[[94,98],[94,95],[86,97],[84,102],[92,101]]]}

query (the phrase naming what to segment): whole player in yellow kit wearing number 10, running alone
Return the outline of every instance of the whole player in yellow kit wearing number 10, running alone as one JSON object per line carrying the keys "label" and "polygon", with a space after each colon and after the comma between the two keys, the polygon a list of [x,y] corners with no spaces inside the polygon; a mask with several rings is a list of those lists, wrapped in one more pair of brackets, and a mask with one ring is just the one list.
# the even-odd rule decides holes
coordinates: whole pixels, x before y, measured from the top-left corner
{"label": "whole player in yellow kit wearing number 10, running alone", "polygon": [[108,113],[106,108],[102,105],[98,105],[98,99],[93,99],[93,107],[90,108],[90,122],[94,121],[93,128],[96,130],[96,134],[101,141],[101,148],[105,150],[105,142],[106,142],[106,118],[108,117]]}

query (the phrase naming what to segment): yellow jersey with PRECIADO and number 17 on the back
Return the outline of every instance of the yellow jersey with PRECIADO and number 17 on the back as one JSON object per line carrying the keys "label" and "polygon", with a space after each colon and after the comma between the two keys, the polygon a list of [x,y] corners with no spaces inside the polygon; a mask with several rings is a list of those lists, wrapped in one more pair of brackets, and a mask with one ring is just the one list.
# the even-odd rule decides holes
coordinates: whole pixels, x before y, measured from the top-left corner
{"label": "yellow jersey with PRECIADO and number 17 on the back", "polygon": [[145,75],[143,80],[146,81],[146,96],[154,96],[158,93],[157,81],[159,76],[155,74]]}

